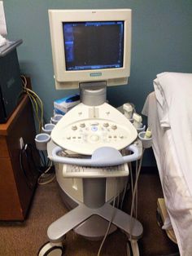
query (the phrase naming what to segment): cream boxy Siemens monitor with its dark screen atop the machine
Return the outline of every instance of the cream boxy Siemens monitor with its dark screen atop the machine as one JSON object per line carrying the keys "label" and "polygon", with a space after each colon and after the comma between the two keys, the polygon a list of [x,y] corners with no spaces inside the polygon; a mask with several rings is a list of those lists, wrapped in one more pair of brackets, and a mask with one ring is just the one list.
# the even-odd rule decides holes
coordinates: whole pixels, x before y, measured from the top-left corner
{"label": "cream boxy Siemens monitor with its dark screen atop the machine", "polygon": [[127,84],[130,74],[131,10],[49,10],[57,89],[80,82]]}

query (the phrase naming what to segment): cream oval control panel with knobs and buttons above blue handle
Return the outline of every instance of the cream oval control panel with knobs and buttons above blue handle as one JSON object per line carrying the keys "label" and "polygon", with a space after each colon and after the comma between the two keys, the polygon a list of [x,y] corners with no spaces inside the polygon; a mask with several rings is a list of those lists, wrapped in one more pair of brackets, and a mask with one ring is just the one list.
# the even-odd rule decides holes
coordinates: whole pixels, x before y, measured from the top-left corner
{"label": "cream oval control panel with knobs and buttons above blue handle", "polygon": [[[89,114],[90,111],[87,113]],[[52,131],[51,139],[61,148],[84,155],[92,155],[97,148],[101,147],[120,150],[137,138],[137,131],[133,125],[123,115],[121,120],[121,115],[117,110],[113,113],[107,109],[106,118],[85,118],[85,115],[84,118],[73,118],[71,115],[71,121],[68,121],[64,116]],[[103,117],[103,114],[100,116]]]}

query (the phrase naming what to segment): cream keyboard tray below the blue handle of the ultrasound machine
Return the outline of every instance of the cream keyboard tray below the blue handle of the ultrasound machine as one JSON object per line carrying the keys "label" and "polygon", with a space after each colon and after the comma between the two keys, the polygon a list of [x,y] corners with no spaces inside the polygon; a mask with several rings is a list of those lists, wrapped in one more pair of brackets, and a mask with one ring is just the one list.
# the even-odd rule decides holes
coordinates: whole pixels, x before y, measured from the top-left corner
{"label": "cream keyboard tray below the blue handle of the ultrasound machine", "polygon": [[129,175],[128,164],[109,167],[63,165],[63,178],[110,178]]}

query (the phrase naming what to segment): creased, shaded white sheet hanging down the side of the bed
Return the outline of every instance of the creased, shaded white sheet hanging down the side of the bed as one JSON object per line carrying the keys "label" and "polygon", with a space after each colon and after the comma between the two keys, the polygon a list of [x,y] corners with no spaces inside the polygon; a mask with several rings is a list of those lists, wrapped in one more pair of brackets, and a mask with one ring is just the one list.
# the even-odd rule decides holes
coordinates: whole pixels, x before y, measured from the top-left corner
{"label": "creased, shaded white sheet hanging down the side of the bed", "polygon": [[176,148],[172,141],[172,130],[170,127],[160,126],[161,111],[155,92],[152,92],[146,99],[142,113],[148,117],[148,126],[152,129],[152,148],[180,254],[181,256],[191,256],[192,197],[177,160]]}

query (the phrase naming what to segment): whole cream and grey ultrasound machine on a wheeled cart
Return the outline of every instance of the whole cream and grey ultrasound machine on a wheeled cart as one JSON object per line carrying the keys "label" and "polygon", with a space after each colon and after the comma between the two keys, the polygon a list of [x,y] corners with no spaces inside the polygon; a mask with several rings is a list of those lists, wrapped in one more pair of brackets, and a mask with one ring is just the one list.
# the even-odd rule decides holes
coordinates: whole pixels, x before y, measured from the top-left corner
{"label": "whole cream and grey ultrasound machine on a wheeled cart", "polygon": [[[139,255],[142,224],[116,205],[129,176],[129,162],[142,157],[137,129],[107,104],[107,86],[127,85],[130,75],[131,10],[49,10],[55,87],[80,90],[81,103],[47,135],[68,213],[50,224],[40,255],[62,255],[73,230],[89,240],[120,228]],[[40,142],[41,143],[41,142]],[[129,249],[128,253],[129,254]]]}

